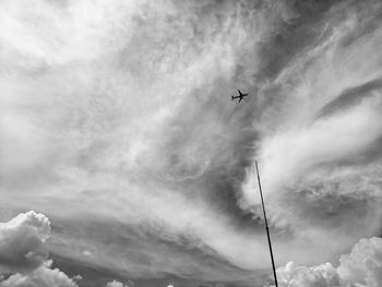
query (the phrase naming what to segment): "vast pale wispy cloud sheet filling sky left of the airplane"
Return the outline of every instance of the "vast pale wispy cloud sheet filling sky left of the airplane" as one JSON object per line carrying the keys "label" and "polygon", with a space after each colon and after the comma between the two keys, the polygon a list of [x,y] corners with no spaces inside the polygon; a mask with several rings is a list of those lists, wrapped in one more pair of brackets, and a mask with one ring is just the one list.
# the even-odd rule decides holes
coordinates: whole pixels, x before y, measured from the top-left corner
{"label": "vast pale wispy cloud sheet filling sky left of the airplane", "polygon": [[[247,165],[240,147],[249,151],[255,134],[254,100],[238,109],[227,93],[253,86],[253,63],[261,59],[252,51],[290,17],[286,3],[2,5],[7,49],[0,60],[8,72],[1,74],[0,171],[11,208],[38,208],[58,225],[73,217],[87,226],[93,218],[123,223],[138,234],[154,230],[157,242],[201,247],[202,254],[214,250],[218,260],[240,266],[264,265],[242,248],[266,254],[236,229],[243,213],[230,182]],[[104,247],[104,235],[97,229],[95,242],[84,231],[72,237],[76,225],[53,231],[50,241],[64,247],[60,254],[83,260],[83,250],[70,252],[76,246],[70,240],[86,241],[84,249],[93,251]],[[123,268],[151,276],[199,270],[191,259],[183,267],[158,260],[155,243],[150,268],[116,252],[126,250],[123,240],[116,241],[115,249],[100,248],[99,264],[120,265],[118,256]]]}

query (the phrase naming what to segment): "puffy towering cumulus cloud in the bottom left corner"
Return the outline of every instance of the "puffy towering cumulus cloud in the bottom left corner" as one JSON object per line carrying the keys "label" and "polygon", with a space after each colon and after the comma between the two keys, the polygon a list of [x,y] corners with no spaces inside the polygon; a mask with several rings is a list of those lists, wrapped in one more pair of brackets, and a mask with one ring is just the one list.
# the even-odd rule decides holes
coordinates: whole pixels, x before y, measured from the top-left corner
{"label": "puffy towering cumulus cloud in the bottom left corner", "polygon": [[19,214],[0,224],[0,275],[3,287],[77,287],[58,268],[51,268],[46,240],[50,237],[50,222],[33,211]]}

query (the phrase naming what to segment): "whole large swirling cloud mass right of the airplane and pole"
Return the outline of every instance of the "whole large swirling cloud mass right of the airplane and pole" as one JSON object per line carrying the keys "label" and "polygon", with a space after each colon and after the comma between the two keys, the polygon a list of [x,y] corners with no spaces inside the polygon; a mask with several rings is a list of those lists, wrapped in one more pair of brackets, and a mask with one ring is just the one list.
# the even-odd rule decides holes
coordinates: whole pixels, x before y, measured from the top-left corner
{"label": "whole large swirling cloud mass right of the airplane and pole", "polygon": [[258,159],[282,262],[333,261],[380,232],[382,29],[373,12],[380,9],[378,1],[331,7],[309,25],[315,40],[296,48],[298,56],[260,88],[259,140],[239,205],[262,218]]}

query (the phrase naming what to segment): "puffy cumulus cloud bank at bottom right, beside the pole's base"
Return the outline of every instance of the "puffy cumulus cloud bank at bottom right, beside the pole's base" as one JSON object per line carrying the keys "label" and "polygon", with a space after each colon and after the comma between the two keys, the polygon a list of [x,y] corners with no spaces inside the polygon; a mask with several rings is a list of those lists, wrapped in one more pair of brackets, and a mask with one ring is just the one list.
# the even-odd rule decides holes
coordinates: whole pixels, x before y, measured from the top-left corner
{"label": "puffy cumulus cloud bank at bottom right, beside the pole's base", "polygon": [[279,286],[288,287],[379,287],[382,286],[382,239],[360,240],[349,254],[342,255],[339,266],[331,263],[298,266],[293,262],[277,268]]}

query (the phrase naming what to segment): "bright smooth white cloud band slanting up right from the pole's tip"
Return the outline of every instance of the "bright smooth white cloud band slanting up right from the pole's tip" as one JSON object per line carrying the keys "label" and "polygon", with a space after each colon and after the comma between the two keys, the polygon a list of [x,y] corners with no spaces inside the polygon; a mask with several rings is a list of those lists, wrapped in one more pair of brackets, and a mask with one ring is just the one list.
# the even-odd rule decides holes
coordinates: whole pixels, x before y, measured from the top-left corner
{"label": "bright smooth white cloud band slanting up right from the pole's tip", "polygon": [[366,99],[336,116],[264,139],[260,154],[268,192],[295,186],[302,176],[309,181],[313,168],[351,158],[373,145],[382,136],[381,103],[380,96]]}

